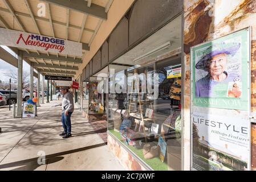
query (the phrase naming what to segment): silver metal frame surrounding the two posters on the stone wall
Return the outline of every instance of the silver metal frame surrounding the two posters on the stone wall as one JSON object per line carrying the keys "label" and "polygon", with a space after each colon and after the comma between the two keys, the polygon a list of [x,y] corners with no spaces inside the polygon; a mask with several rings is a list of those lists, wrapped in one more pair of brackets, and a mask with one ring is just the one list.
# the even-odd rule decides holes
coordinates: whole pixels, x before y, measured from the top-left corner
{"label": "silver metal frame surrounding the two posters on the stone wall", "polygon": [[[235,34],[237,32],[240,31],[247,31],[247,127],[248,127],[248,134],[247,134],[247,146],[248,146],[248,152],[247,152],[247,170],[250,171],[251,170],[251,26],[242,28],[240,30],[231,32],[230,34],[226,34],[224,36],[221,36],[219,38],[210,40],[208,42],[204,42],[201,44],[198,44],[196,46],[190,47],[190,68],[191,68],[191,72],[190,72],[190,170],[192,171],[197,171],[196,168],[193,168],[193,121],[192,121],[192,112],[193,112],[193,97],[194,97],[194,72],[193,72],[193,49],[199,46],[203,46],[204,44],[208,44],[211,43],[215,40],[218,39],[222,39],[225,38],[226,36]],[[198,106],[196,106],[198,107]],[[214,107],[212,107],[214,108]],[[217,107],[215,107],[217,108]],[[209,107],[210,109],[210,107]],[[222,110],[234,110],[234,109],[225,109],[225,108],[220,108]]]}

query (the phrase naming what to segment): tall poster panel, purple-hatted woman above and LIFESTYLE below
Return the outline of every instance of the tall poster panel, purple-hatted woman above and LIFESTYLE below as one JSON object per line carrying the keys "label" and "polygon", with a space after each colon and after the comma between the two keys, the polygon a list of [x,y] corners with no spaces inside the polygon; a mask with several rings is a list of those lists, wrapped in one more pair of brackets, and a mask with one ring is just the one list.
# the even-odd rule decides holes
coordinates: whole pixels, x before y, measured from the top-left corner
{"label": "tall poster panel, purple-hatted woman above and LIFESTYLE below", "polygon": [[247,170],[249,28],[191,49],[192,169]]}

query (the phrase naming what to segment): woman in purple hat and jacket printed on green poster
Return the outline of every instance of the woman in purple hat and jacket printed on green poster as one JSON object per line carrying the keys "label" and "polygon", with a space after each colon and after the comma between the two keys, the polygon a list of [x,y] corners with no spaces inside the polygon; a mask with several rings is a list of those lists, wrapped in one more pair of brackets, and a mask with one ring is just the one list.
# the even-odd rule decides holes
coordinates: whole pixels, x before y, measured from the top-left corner
{"label": "woman in purple hat and jacket printed on green poster", "polygon": [[216,97],[217,92],[224,92],[225,86],[221,88],[220,84],[241,81],[238,72],[230,74],[227,69],[232,61],[229,57],[235,55],[240,47],[240,43],[222,42],[206,49],[206,54],[196,64],[196,71],[202,70],[207,74],[196,81],[196,97]]}

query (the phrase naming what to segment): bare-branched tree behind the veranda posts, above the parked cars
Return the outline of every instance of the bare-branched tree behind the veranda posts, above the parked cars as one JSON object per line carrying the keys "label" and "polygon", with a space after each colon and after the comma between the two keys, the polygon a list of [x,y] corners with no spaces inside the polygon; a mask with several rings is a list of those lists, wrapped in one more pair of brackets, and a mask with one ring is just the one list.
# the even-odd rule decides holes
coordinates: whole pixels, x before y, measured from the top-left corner
{"label": "bare-branched tree behind the veranda posts, above the parked cars", "polygon": [[[17,85],[18,83],[18,73],[14,71],[10,71],[8,73],[5,73],[5,76],[11,78],[12,81],[15,82]],[[22,89],[27,90],[30,88],[30,73],[27,71],[23,71],[23,78],[22,78]],[[36,86],[36,82],[34,82],[33,86]]]}

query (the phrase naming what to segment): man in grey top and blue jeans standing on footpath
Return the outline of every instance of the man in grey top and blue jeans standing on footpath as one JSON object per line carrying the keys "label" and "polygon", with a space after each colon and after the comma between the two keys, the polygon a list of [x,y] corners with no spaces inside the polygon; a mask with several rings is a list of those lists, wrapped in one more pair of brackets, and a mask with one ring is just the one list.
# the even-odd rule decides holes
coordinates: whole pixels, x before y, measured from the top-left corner
{"label": "man in grey top and blue jeans standing on footpath", "polygon": [[74,100],[73,95],[68,92],[68,86],[60,88],[60,92],[63,95],[62,104],[62,126],[64,131],[59,134],[62,138],[70,138],[71,135],[71,114],[74,111]]}

